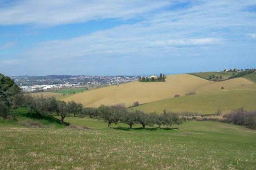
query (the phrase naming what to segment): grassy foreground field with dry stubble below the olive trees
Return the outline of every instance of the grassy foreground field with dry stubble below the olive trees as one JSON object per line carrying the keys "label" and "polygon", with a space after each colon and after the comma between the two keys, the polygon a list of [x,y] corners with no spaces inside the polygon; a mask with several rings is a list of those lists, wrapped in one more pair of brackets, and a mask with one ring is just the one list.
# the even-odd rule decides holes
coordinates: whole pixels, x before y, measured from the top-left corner
{"label": "grassy foreground field with dry stubble below the olive trees", "polygon": [[256,131],[242,126],[188,121],[178,129],[128,130],[93,118],[65,120],[90,129],[0,126],[0,169],[256,168]]}

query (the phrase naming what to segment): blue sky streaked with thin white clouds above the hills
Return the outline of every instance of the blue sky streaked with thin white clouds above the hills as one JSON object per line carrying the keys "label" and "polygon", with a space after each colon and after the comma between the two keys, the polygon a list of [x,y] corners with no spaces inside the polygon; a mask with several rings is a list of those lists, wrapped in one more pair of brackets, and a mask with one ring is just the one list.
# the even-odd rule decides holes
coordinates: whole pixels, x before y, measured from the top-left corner
{"label": "blue sky streaked with thin white clouds above the hills", "polygon": [[0,73],[256,67],[256,0],[0,0]]}

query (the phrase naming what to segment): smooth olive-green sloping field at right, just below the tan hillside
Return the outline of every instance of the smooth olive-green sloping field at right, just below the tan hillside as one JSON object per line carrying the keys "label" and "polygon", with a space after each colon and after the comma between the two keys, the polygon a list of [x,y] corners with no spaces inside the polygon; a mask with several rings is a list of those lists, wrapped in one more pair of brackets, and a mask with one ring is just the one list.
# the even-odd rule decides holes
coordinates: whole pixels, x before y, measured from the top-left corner
{"label": "smooth olive-green sloping field at right, just below the tan hillside", "polygon": [[222,112],[243,107],[248,111],[256,110],[256,86],[241,86],[239,89],[222,90],[190,96],[181,96],[151,102],[135,107],[145,112],[162,113],[163,109],[173,112],[198,112],[214,114],[218,109]]}

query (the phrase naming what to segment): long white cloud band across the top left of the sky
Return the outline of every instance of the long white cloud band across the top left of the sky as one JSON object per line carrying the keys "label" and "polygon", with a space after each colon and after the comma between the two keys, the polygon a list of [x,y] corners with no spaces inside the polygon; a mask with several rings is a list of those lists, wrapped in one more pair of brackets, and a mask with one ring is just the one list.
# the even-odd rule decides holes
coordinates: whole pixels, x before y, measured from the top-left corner
{"label": "long white cloud band across the top left of the sky", "polygon": [[0,9],[0,25],[58,24],[129,19],[170,5],[167,0],[24,0]]}

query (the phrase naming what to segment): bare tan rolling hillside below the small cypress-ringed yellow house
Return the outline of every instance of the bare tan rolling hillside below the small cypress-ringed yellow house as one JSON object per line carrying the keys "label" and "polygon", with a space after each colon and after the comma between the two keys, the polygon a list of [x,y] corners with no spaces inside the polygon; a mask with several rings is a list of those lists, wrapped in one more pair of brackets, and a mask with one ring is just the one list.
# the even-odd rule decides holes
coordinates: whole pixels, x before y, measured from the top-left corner
{"label": "bare tan rolling hillside below the small cypress-ringed yellow house", "polygon": [[135,101],[142,104],[172,98],[176,94],[185,96],[190,92],[214,91],[221,89],[222,86],[225,89],[230,89],[252,83],[245,78],[213,82],[189,74],[178,74],[168,75],[166,82],[126,83],[75,94],[63,100],[74,100],[82,103],[84,107],[99,107],[101,104],[114,105],[117,103],[124,103],[128,107]]}

